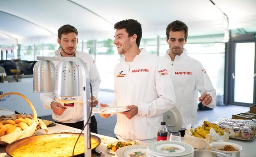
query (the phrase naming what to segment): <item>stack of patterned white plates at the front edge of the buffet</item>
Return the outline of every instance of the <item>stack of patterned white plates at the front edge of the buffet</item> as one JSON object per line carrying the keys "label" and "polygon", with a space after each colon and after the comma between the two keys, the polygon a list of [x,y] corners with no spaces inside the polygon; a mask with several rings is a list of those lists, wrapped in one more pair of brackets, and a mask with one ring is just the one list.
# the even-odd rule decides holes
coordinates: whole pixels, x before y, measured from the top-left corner
{"label": "stack of patterned white plates at the front edge of the buffet", "polygon": [[193,157],[194,148],[175,141],[158,141],[149,144],[147,157]]}

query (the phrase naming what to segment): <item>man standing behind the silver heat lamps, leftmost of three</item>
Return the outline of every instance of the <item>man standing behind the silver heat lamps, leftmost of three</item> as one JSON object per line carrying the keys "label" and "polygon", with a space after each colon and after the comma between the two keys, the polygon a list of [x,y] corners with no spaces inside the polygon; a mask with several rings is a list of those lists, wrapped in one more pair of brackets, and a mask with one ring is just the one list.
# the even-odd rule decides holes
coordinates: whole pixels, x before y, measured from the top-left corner
{"label": "man standing behind the silver heat lamps, leftmost of three", "polygon": [[[101,78],[93,57],[88,53],[76,50],[78,44],[77,36],[78,31],[75,27],[69,24],[60,27],[58,30],[58,43],[60,45],[60,49],[55,51],[55,56],[80,57],[85,62],[89,71],[89,81],[92,87],[93,100],[95,100],[93,101],[92,107],[95,107],[98,104],[98,100],[96,100],[96,98],[100,89]],[[55,61],[54,63],[56,66],[58,62]],[[80,84],[82,84],[81,80],[82,79],[80,79]],[[80,88],[80,93],[83,93],[82,88]],[[53,93],[40,93],[40,98],[45,109],[53,110],[53,119],[56,123],[79,129],[83,128],[83,103],[74,102],[72,104],[64,104],[57,102]],[[82,96],[78,96],[77,101],[80,100],[83,100]],[[98,133],[97,121],[94,113],[91,115],[90,128],[92,133]]]}

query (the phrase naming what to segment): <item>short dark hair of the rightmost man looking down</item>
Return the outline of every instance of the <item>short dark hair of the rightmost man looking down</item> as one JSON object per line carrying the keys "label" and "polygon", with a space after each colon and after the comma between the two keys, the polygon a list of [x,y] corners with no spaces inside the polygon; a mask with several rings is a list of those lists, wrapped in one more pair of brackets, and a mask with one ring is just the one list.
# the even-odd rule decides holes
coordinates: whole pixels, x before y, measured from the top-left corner
{"label": "short dark hair of the rightmost man looking down", "polygon": [[169,39],[169,32],[170,31],[184,31],[185,32],[185,40],[187,40],[187,32],[188,32],[188,27],[187,25],[180,21],[180,20],[176,20],[171,22],[170,24],[168,24],[167,28],[166,28],[166,35],[167,35],[167,39]]}

